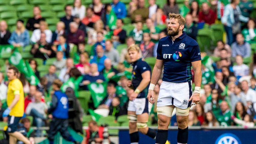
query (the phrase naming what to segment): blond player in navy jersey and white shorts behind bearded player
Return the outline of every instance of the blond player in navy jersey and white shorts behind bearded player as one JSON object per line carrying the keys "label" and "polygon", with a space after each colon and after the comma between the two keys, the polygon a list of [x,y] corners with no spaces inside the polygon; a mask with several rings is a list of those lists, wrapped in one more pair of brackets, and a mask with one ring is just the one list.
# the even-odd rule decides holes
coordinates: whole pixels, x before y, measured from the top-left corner
{"label": "blond player in navy jersey and white shorts behind bearded player", "polygon": [[[148,128],[148,113],[152,105],[146,99],[151,76],[151,68],[140,58],[140,48],[135,44],[128,47],[127,52],[133,65],[132,81],[127,86],[134,90],[129,97],[128,119],[131,144],[138,144],[139,132],[155,138],[156,132]],[[139,132],[138,132],[139,131]]]}

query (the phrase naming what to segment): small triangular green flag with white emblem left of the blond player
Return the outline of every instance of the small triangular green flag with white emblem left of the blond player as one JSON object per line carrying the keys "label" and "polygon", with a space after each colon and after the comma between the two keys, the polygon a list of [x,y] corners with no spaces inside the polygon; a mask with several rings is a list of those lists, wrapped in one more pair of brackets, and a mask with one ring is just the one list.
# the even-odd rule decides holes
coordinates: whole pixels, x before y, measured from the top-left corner
{"label": "small triangular green flag with white emblem left of the blond player", "polygon": [[87,85],[89,91],[91,92],[92,101],[94,104],[94,107],[97,108],[101,101],[105,98],[107,91],[107,83],[90,83]]}

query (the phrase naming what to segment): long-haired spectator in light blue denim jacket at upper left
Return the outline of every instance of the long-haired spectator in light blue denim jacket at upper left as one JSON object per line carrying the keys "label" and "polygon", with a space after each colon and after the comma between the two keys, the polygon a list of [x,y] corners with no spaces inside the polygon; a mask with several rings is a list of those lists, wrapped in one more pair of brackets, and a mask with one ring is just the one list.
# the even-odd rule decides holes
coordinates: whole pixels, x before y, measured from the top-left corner
{"label": "long-haired spectator in light blue denim jacket at upper left", "polygon": [[17,20],[16,30],[12,32],[10,39],[8,40],[9,44],[12,44],[14,47],[25,47],[29,45],[29,33],[23,25],[23,20]]}

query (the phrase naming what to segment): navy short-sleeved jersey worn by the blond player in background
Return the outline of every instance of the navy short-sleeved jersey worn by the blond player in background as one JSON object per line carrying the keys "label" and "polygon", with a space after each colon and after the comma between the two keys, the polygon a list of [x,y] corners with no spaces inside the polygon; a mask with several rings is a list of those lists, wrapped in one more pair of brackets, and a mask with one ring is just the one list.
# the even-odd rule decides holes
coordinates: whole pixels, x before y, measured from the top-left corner
{"label": "navy short-sleeved jersey worn by the blond player in background", "polygon": [[[151,67],[141,59],[135,61],[132,66],[133,66],[132,85],[133,85],[133,90],[135,90],[139,86],[140,82],[142,81],[142,76],[141,76],[142,73],[144,73],[145,71],[150,71],[150,75],[151,75]],[[149,84],[144,90],[141,90],[137,98],[145,98],[148,94],[148,87],[149,87]]]}

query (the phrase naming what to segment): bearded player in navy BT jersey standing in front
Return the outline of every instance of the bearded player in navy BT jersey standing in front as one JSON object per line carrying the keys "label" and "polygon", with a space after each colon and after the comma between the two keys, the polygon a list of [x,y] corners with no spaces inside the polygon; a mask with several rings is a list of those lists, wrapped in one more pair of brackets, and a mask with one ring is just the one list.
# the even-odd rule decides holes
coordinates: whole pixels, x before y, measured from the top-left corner
{"label": "bearded player in navy BT jersey standing in front", "polygon": [[[173,109],[176,107],[178,144],[188,141],[188,113],[199,102],[201,86],[201,54],[197,42],[182,32],[185,19],[180,14],[169,13],[168,36],[160,39],[157,60],[148,91],[148,100],[154,103],[154,87],[164,65],[163,82],[157,99],[158,129],[156,144],[164,144],[168,136]],[[191,65],[195,70],[195,92],[192,95]]]}

